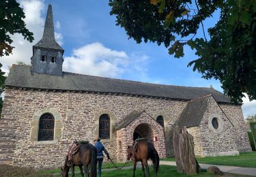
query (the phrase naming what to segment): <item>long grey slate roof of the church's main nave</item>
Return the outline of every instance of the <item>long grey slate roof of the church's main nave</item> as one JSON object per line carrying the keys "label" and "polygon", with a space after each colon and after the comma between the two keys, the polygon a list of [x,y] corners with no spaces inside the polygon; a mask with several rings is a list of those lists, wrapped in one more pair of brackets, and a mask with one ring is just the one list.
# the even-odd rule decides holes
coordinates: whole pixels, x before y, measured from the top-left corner
{"label": "long grey slate roof of the church's main nave", "polygon": [[214,88],[150,84],[68,72],[63,72],[63,76],[52,76],[32,73],[31,67],[25,65],[12,65],[5,85],[62,91],[124,93],[182,100],[197,99],[211,94],[219,103],[231,103],[229,97]]}

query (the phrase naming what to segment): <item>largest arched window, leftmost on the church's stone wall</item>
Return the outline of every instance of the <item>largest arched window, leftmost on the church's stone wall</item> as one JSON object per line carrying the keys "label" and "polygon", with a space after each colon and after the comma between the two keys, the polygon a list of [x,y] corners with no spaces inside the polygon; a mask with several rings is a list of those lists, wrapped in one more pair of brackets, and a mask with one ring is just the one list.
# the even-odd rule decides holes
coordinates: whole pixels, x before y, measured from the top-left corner
{"label": "largest arched window, leftmost on the church's stone wall", "polygon": [[54,135],[54,117],[52,114],[46,113],[40,116],[38,141],[51,141]]}

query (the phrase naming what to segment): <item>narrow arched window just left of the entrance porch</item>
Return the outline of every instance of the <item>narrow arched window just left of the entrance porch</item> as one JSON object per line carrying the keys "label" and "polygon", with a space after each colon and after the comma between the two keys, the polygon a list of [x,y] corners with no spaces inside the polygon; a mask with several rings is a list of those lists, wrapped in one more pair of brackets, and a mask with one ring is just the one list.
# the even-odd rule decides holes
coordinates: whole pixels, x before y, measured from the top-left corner
{"label": "narrow arched window just left of the entrance porch", "polygon": [[101,139],[110,139],[110,118],[108,114],[102,114],[100,116],[99,136]]}

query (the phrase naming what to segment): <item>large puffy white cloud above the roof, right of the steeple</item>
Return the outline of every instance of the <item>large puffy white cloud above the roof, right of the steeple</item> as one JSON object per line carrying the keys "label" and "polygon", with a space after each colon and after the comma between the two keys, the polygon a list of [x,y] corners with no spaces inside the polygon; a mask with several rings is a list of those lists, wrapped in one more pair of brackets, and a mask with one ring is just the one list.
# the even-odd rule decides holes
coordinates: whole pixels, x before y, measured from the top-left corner
{"label": "large puffy white cloud above the roof, right of the steeple", "polygon": [[63,70],[111,78],[147,78],[147,61],[146,55],[111,50],[96,42],[73,50],[72,56],[64,58]]}

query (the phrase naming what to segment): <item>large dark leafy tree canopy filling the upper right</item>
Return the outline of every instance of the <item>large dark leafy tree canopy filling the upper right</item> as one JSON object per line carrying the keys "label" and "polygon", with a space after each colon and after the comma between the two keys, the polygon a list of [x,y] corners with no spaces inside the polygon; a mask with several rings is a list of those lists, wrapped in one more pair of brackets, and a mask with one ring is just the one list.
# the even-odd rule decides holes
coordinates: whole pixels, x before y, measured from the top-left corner
{"label": "large dark leafy tree canopy filling the upper right", "polygon": [[[256,0],[110,0],[110,14],[137,43],[164,44],[169,54],[183,57],[185,45],[199,57],[188,63],[205,79],[220,80],[235,102],[243,93],[256,99]],[[221,17],[205,37],[203,20],[217,10]],[[195,38],[199,26],[203,38]]]}

